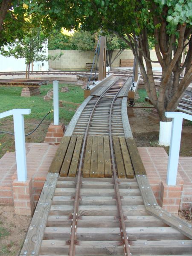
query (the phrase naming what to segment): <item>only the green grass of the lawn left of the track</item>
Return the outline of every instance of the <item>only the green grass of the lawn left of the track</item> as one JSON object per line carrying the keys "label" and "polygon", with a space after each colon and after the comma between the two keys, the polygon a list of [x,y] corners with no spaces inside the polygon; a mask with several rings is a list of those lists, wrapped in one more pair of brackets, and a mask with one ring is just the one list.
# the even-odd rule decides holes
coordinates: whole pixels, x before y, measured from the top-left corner
{"label": "only the green grass of the lawn left of the track", "polygon": [[[69,92],[59,93],[59,99],[81,103],[84,100],[83,90],[79,86],[71,86],[60,84],[59,87],[69,87]],[[41,119],[48,111],[53,108],[52,100],[44,101],[44,96],[52,89],[52,84],[41,86],[41,94],[31,97],[21,97],[20,87],[0,87],[0,113],[11,110],[13,108],[30,108],[31,114],[26,115],[25,119]],[[60,108],[60,118],[66,123],[70,122],[73,117],[76,106],[65,104],[64,108]],[[52,120],[52,114],[47,116],[47,119]]]}

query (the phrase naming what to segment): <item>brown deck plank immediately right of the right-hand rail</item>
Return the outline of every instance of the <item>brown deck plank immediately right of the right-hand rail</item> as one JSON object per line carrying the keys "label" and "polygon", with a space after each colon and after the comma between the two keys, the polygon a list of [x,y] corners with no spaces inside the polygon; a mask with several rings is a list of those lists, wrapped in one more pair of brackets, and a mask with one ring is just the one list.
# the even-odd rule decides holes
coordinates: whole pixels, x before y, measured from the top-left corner
{"label": "brown deck plank immediately right of the right-hand rail", "polygon": [[113,136],[113,145],[114,145],[114,151],[115,151],[115,159],[116,159],[116,167],[117,167],[117,173],[119,178],[125,178],[125,168],[123,164],[123,158],[121,154],[121,148],[119,144],[119,137]]}

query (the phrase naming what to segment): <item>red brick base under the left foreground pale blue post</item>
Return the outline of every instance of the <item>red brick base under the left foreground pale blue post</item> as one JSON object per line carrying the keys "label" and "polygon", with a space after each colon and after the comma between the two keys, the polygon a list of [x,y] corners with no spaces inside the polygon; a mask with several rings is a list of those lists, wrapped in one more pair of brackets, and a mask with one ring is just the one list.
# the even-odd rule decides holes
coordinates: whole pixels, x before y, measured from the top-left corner
{"label": "red brick base under the left foreground pale blue post", "polygon": [[32,179],[26,182],[13,180],[12,186],[15,213],[18,215],[31,216],[34,210]]}

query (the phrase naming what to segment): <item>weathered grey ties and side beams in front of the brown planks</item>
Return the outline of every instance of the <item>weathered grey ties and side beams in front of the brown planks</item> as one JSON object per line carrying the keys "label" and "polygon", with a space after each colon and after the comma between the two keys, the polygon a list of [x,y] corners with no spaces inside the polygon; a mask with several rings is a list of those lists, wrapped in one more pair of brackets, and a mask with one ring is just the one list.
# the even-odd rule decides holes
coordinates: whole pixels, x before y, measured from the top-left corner
{"label": "weathered grey ties and side beams in front of the brown planks", "polygon": [[[57,177],[57,173],[47,176],[20,256],[67,256],[69,253],[76,178]],[[192,255],[189,224],[157,206],[146,180],[146,175],[118,180],[132,256]],[[151,206],[158,212],[157,215],[153,212],[155,216],[145,207],[141,183],[149,199],[155,202]],[[176,228],[170,227],[170,222]],[[125,255],[113,179],[82,178],[76,225],[75,255]]]}

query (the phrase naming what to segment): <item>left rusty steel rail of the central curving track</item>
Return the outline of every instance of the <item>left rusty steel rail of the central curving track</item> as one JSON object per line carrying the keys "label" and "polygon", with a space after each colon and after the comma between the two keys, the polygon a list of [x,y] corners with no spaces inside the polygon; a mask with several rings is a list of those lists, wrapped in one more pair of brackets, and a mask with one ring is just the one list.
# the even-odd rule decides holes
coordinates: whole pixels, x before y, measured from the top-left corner
{"label": "left rusty steel rail of the central curving track", "polygon": [[[120,78],[119,78],[120,79]],[[108,90],[111,89],[111,87],[113,87],[113,85],[118,82],[114,81],[113,84],[111,84],[111,86],[108,88]],[[85,145],[86,145],[86,141],[87,141],[87,134],[88,134],[88,130],[89,130],[89,126],[90,126],[90,121],[91,118],[93,116],[93,112],[96,108],[96,105],[99,103],[99,101],[102,99],[102,97],[105,95],[105,93],[108,92],[108,90],[106,90],[104,93],[102,93],[102,95],[99,97],[99,99],[96,101],[95,105],[93,106],[93,109],[90,113],[90,117],[89,120],[87,122],[87,128],[84,134],[84,141],[83,141],[83,145],[82,145],[82,151],[81,151],[81,158],[80,158],[80,162],[79,162],[79,172],[78,172],[78,176],[77,176],[77,183],[76,183],[76,194],[75,194],[75,201],[74,201],[74,207],[73,207],[73,216],[72,216],[72,225],[71,225],[71,232],[70,232],[70,249],[69,249],[69,256],[75,256],[75,241],[76,241],[76,229],[77,229],[77,212],[79,209],[79,195],[80,195],[80,186],[81,186],[81,171],[82,171],[82,164],[83,164],[83,158],[84,158],[84,149],[85,149]],[[119,93],[119,91],[117,92]]]}

